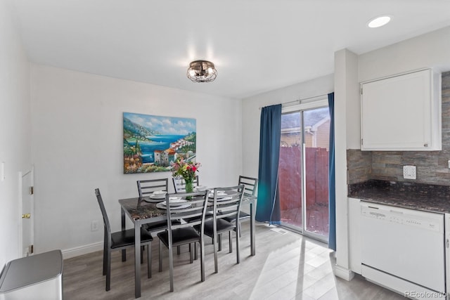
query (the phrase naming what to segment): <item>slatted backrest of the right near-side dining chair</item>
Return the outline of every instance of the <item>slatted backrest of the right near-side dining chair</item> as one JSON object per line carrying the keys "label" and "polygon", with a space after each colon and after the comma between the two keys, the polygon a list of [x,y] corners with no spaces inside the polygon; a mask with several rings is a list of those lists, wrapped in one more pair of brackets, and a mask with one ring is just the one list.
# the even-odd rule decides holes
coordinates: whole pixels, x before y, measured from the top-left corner
{"label": "slatted backrest of the right near-side dining chair", "polygon": [[[221,195],[221,193],[225,195]],[[240,204],[242,203],[244,195],[244,185],[230,186],[227,188],[214,188],[214,204],[213,204],[213,218],[214,218],[214,234],[217,230],[215,223],[217,219],[231,218],[236,221],[238,225]]]}

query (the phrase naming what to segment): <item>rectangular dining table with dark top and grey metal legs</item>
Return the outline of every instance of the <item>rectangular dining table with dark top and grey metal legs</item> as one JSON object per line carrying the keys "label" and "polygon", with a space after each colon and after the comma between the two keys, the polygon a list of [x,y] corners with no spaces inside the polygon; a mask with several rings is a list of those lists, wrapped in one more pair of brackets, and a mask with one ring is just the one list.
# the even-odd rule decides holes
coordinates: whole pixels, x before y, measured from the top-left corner
{"label": "rectangular dining table with dark top and grey metal legs", "polygon": [[[212,191],[212,190],[211,190]],[[165,201],[165,198],[161,201]],[[212,199],[210,199],[212,201]],[[255,214],[257,197],[243,195],[242,204],[250,204],[250,255],[255,256]],[[158,203],[150,202],[149,197],[133,197],[120,199],[122,230],[126,229],[126,217],[134,224],[134,296],[141,297],[141,226],[144,224],[167,221],[165,209],[157,207]],[[160,206],[159,206],[160,207]],[[122,260],[126,250],[122,250]]]}

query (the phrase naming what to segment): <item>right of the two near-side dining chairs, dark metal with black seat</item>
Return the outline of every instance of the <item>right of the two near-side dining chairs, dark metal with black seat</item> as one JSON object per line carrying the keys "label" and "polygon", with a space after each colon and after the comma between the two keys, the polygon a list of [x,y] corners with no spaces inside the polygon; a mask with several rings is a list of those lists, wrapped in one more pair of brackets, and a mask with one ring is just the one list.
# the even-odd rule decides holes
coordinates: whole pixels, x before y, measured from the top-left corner
{"label": "right of the two near-side dining chairs, dark metal with black seat", "polygon": [[[244,185],[227,188],[214,188],[212,219],[205,221],[205,235],[212,237],[214,244],[214,273],[219,271],[217,263],[217,244],[222,233],[229,233],[229,252],[233,252],[231,232],[236,231],[236,263],[240,263],[240,228],[238,216],[244,195]],[[223,193],[223,195],[221,195]],[[227,221],[230,218],[233,221]]]}

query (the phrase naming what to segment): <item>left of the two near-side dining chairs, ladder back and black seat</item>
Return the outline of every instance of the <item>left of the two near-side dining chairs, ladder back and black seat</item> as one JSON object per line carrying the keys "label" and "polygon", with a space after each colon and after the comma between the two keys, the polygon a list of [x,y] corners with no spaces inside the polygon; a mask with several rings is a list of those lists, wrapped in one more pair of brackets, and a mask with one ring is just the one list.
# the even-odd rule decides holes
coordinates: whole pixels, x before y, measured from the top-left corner
{"label": "left of the two near-side dining chairs, ladder back and black seat", "polygon": [[[169,276],[170,292],[174,292],[174,256],[172,248],[189,244],[196,249],[196,242],[200,244],[200,280],[205,281],[205,244],[203,242],[203,231],[205,215],[207,211],[207,190],[194,193],[178,193],[166,195],[165,207],[167,209],[167,230],[158,233],[159,244],[159,270],[162,271],[162,245],[169,249]],[[192,200],[173,203],[170,197],[193,197]],[[199,226],[200,232],[193,226]],[[193,263],[193,251],[190,252],[191,263]]]}

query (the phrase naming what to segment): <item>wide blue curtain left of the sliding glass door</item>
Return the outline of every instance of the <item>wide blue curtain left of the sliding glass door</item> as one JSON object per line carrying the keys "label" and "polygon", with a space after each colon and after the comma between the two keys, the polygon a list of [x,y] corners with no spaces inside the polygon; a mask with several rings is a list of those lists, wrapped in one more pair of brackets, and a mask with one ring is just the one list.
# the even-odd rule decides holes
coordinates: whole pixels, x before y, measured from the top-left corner
{"label": "wide blue curtain left of the sliding glass door", "polygon": [[271,224],[280,223],[278,161],[280,159],[281,104],[262,108],[260,128],[256,219]]}

